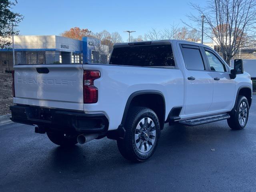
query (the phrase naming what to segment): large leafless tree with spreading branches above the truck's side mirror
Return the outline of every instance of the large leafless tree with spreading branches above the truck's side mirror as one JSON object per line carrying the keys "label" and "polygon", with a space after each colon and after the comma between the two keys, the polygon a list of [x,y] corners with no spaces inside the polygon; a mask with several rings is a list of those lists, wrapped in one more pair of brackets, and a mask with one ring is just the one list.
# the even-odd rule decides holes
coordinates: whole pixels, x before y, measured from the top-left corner
{"label": "large leafless tree with spreading branches above the truck's side mirror", "polygon": [[[245,46],[255,46],[256,0],[208,0],[208,6],[190,4],[204,15],[204,35],[220,46],[224,60],[231,58]],[[202,22],[200,16],[188,15],[197,24],[187,24],[197,30]]]}

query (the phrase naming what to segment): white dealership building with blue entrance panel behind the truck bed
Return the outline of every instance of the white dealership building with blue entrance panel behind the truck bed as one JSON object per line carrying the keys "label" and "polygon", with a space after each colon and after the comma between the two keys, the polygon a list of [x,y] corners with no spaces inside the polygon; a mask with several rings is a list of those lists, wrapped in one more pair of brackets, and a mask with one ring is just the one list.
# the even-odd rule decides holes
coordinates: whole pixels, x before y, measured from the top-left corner
{"label": "white dealership building with blue entrance panel behind the truck bed", "polygon": [[[107,63],[108,46],[96,38],[14,36],[15,64]],[[12,46],[0,49],[0,70],[13,66]]]}

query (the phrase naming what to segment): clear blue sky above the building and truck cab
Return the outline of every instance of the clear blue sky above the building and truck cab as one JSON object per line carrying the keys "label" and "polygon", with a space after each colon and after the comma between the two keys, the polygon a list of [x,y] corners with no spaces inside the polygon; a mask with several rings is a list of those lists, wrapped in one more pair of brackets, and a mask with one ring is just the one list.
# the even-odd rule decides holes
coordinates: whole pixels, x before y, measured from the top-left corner
{"label": "clear blue sky above the building and truck cab", "polygon": [[189,2],[206,5],[205,0],[18,0],[13,10],[24,16],[20,35],[60,35],[77,26],[119,32],[126,41],[125,30],[135,30],[136,38],[151,28],[183,26],[181,20],[189,22],[186,14],[197,14]]}

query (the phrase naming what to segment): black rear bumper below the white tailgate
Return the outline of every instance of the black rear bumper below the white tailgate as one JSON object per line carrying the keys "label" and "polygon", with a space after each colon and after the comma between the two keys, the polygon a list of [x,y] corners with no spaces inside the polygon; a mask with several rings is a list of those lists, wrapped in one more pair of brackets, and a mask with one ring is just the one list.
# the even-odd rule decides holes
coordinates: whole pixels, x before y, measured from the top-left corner
{"label": "black rear bumper below the white tailgate", "polygon": [[46,129],[77,133],[105,133],[108,119],[104,114],[86,114],[72,110],[37,106],[10,106],[13,122],[44,126]]}

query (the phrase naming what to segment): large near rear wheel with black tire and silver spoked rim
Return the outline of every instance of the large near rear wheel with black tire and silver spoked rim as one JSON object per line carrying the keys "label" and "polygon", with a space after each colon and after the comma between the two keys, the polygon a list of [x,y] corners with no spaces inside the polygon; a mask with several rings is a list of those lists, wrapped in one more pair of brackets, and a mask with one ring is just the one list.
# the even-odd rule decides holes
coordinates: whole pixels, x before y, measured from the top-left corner
{"label": "large near rear wheel with black tire and silver spoked rim", "polygon": [[[143,120],[146,123],[142,124]],[[140,129],[136,129],[137,125],[140,125]],[[124,129],[124,139],[117,140],[122,156],[133,162],[143,162],[152,157],[160,138],[160,123],[156,113],[146,107],[134,107],[128,112]],[[135,134],[138,135],[137,140]],[[146,150],[148,151],[145,152]]]}

